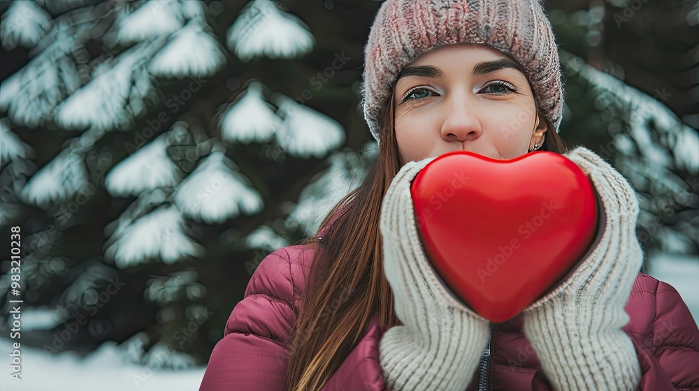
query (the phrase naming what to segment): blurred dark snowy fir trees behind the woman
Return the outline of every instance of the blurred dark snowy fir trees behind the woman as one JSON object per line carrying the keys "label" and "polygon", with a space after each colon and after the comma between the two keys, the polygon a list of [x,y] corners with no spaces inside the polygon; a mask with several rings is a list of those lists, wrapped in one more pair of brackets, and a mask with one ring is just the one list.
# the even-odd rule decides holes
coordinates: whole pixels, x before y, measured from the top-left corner
{"label": "blurred dark snowy fir trees behind the woman", "polygon": [[[24,300],[23,345],[206,364],[262,258],[314,235],[373,161],[359,91],[380,4],[2,1],[1,334]],[[696,256],[699,3],[545,4],[561,136],[637,189],[647,263]]]}

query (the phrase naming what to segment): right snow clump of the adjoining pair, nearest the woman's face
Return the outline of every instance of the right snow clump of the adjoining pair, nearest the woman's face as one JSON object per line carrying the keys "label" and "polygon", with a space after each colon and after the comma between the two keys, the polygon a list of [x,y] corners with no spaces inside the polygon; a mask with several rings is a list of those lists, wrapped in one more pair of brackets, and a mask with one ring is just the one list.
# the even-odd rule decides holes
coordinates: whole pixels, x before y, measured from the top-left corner
{"label": "right snow clump of the adjoining pair, nearest the woman's face", "polygon": [[302,158],[323,158],[345,142],[345,128],[338,121],[282,94],[273,98],[284,118],[277,132],[284,152]]}

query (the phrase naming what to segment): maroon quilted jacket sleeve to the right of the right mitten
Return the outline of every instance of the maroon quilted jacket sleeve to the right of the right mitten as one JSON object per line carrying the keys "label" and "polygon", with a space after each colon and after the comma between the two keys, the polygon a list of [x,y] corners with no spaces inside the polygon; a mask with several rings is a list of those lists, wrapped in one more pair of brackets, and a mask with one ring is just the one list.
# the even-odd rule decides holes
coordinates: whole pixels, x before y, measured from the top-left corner
{"label": "maroon quilted jacket sleeve to the right of the right mitten", "polygon": [[[625,330],[633,340],[643,376],[638,390],[699,390],[699,330],[675,288],[640,274],[627,305],[630,316],[647,318],[647,330]],[[651,307],[647,311],[643,307]],[[654,307],[654,308],[653,308]]]}

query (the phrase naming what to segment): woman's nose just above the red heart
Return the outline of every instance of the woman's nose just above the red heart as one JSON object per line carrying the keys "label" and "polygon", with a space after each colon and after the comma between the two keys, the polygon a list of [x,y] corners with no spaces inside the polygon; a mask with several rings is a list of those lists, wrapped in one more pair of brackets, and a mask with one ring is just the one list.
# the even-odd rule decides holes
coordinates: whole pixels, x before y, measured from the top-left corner
{"label": "woman's nose just above the red heart", "polygon": [[453,96],[449,101],[441,133],[447,141],[473,140],[480,136],[482,129],[477,109],[467,96]]}

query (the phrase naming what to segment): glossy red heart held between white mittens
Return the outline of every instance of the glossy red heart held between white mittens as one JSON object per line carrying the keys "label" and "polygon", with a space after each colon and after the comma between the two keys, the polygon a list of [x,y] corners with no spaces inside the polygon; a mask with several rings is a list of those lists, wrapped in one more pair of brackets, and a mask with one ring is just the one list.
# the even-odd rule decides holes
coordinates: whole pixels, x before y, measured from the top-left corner
{"label": "glossy red heart held between white mittens", "polygon": [[504,322],[561,281],[596,230],[594,189],[561,154],[502,161],[466,151],[435,158],[410,187],[425,252],[452,292]]}

